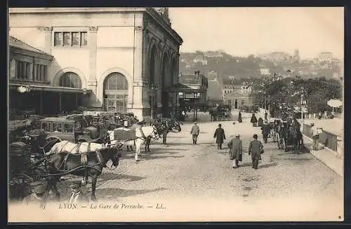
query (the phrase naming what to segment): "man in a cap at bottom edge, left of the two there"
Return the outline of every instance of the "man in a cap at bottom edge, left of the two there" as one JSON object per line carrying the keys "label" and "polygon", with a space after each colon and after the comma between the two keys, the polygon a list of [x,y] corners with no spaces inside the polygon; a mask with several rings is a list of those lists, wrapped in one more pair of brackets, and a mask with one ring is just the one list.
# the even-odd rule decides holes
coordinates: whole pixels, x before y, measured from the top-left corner
{"label": "man in a cap at bottom edge, left of the two there", "polygon": [[27,195],[23,199],[23,203],[29,204],[29,203],[39,203],[39,204],[45,204],[47,200],[47,192],[46,188],[48,187],[48,183],[46,181],[34,181],[30,183],[30,186],[32,188],[32,193],[30,195]]}

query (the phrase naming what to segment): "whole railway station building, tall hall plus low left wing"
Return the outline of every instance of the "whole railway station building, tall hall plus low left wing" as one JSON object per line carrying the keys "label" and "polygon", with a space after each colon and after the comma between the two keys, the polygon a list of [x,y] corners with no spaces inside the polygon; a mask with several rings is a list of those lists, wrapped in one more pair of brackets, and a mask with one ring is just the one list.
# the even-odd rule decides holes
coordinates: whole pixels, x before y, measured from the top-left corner
{"label": "whole railway station building, tall hall plus low left wing", "polygon": [[176,112],[179,95],[167,88],[178,83],[183,40],[168,8],[10,8],[8,23],[9,39],[22,44],[9,60],[12,101],[27,97],[41,113]]}

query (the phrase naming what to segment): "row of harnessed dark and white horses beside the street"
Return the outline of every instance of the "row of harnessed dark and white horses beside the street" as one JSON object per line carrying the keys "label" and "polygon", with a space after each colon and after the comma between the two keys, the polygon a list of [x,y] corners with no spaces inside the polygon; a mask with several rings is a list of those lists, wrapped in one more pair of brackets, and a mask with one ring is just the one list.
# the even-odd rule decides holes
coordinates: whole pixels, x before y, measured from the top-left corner
{"label": "row of harnessed dark and white horses beside the street", "polygon": [[[130,129],[119,127],[107,131],[105,143],[93,142],[73,143],[69,141],[53,142],[51,149],[46,153],[49,158],[46,163],[48,173],[55,176],[48,176],[47,192],[52,190],[56,198],[60,199],[60,193],[56,187],[57,182],[65,174],[81,176],[82,182],[86,183],[91,177],[91,200],[96,200],[95,188],[98,176],[102,174],[102,169],[107,167],[107,162],[112,160],[112,166],[119,165],[121,148],[123,146],[135,146],[135,162],[139,162],[139,155],[143,145],[145,151],[150,151],[150,142],[157,140],[162,135],[166,137],[168,132],[180,132],[180,122],[175,118],[159,118],[150,124],[138,123]],[[133,133],[131,138],[118,136],[116,133]],[[121,137],[121,138],[120,138]],[[120,140],[123,139],[123,140]]]}

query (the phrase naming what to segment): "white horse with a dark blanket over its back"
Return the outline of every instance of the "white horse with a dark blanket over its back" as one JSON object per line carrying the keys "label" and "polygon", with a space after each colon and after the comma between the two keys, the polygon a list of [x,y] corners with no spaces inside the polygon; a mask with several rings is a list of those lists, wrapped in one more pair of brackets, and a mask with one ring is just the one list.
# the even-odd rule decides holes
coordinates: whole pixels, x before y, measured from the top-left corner
{"label": "white horse with a dark blanket over its back", "polygon": [[159,134],[157,133],[157,128],[152,126],[135,127],[133,129],[127,129],[124,127],[119,127],[117,129],[107,131],[110,136],[111,144],[115,144],[122,141],[126,146],[135,145],[135,161],[138,162],[140,155],[141,146],[146,142],[147,137],[152,137],[152,139],[158,139]]}

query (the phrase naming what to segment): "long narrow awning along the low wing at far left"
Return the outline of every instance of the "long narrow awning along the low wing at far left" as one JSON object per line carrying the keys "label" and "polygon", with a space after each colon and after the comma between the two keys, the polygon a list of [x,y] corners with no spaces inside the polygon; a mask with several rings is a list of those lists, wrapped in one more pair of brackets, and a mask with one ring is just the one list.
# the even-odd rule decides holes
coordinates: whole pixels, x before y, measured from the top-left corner
{"label": "long narrow awning along the low wing at far left", "polygon": [[80,88],[65,88],[65,87],[55,87],[49,85],[29,85],[20,83],[10,83],[10,89],[17,90],[19,87],[30,88],[30,90],[35,91],[47,91],[47,92],[72,92],[72,93],[83,93],[88,94],[91,90],[80,89]]}

